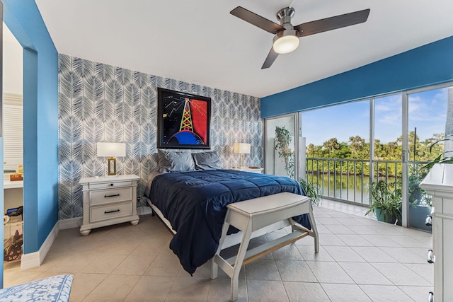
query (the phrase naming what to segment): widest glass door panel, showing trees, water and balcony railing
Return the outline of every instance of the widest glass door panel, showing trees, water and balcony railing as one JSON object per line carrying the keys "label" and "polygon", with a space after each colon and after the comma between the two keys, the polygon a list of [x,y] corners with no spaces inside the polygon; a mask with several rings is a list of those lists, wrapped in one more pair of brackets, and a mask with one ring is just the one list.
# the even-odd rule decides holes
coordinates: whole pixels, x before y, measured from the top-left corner
{"label": "widest glass door panel, showing trees, water and balcony railing", "polygon": [[369,112],[369,100],[302,112],[306,179],[323,196],[369,204]]}

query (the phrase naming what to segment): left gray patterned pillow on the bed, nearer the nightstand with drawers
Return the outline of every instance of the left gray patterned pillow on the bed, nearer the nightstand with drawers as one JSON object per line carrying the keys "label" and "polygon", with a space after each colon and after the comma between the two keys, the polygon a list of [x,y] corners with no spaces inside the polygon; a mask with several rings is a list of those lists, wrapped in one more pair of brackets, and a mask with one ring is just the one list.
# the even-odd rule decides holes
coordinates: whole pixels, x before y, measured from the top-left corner
{"label": "left gray patterned pillow on the bed, nearer the nightstand with drawers", "polygon": [[162,151],[159,153],[159,172],[184,172],[195,170],[195,163],[189,151]]}

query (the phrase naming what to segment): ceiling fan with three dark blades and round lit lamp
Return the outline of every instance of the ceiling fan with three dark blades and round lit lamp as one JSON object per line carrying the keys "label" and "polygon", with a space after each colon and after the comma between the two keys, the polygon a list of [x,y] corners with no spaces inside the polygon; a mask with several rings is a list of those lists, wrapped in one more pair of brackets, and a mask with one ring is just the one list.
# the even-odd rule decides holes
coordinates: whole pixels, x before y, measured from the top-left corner
{"label": "ceiling fan with three dark blades and round lit lamp", "polygon": [[273,47],[270,49],[261,69],[269,68],[278,54],[287,54],[299,46],[299,37],[323,33],[328,30],[344,28],[346,26],[364,23],[369,15],[369,8],[362,11],[345,13],[343,15],[333,16],[330,18],[319,19],[316,21],[302,23],[296,26],[291,24],[291,18],[294,16],[294,8],[285,7],[277,13],[277,20],[280,25],[270,21],[262,16],[257,15],[246,8],[238,6],[230,11],[231,15],[241,18],[243,21],[251,23],[268,33],[274,34]]}

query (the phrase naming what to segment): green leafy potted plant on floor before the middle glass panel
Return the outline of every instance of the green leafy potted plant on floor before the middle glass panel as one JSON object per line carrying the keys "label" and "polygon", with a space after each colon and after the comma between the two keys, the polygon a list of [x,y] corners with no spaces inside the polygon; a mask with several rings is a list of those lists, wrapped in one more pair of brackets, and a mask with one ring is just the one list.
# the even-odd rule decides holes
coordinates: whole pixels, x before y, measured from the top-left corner
{"label": "green leafy potted plant on floor before the middle glass panel", "polygon": [[373,213],[377,220],[388,223],[401,221],[401,189],[391,190],[391,185],[384,180],[379,180],[372,182],[369,185],[369,190],[372,203],[365,215]]}

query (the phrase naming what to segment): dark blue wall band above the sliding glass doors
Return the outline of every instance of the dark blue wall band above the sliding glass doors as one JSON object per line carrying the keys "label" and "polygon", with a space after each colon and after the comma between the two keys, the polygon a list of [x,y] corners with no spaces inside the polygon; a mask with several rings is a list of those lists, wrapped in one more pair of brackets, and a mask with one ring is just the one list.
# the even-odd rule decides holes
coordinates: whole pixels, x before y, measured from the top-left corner
{"label": "dark blue wall band above the sliding glass doors", "polygon": [[453,81],[453,36],[261,98],[261,117],[284,115],[447,81]]}

